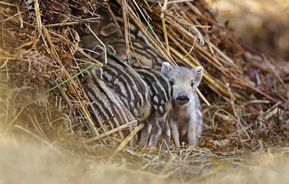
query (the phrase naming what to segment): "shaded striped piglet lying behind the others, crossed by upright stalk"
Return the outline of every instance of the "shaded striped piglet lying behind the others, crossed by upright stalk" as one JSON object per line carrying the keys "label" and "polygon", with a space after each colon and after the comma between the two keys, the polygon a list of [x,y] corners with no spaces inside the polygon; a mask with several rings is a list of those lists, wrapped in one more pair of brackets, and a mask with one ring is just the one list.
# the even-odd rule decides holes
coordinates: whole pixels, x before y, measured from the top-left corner
{"label": "shaded striped piglet lying behind the others, crossed by upright stalk", "polygon": [[[116,51],[116,57],[127,63],[132,63],[138,67],[149,67],[157,71],[161,71],[161,63],[166,61],[158,50],[153,46],[141,30],[132,21],[129,21],[129,34],[130,34],[130,62],[125,51],[124,39],[124,23],[120,11],[120,6],[116,3],[109,3],[117,22],[121,29],[118,30],[107,8],[101,7],[98,14],[102,16],[100,23],[90,23],[92,31],[101,39],[106,45],[111,45]],[[80,25],[80,28],[75,28],[80,31],[80,35],[91,34],[86,26]],[[149,30],[148,30],[149,31]],[[85,45],[85,44],[83,44]]]}

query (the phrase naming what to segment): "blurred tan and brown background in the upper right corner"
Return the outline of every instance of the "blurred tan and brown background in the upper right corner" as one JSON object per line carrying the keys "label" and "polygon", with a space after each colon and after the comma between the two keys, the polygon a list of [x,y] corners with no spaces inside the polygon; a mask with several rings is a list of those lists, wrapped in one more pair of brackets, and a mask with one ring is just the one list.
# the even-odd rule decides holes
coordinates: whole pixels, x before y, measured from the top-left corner
{"label": "blurred tan and brown background in the upper right corner", "polygon": [[289,0],[208,0],[227,28],[251,51],[289,68]]}

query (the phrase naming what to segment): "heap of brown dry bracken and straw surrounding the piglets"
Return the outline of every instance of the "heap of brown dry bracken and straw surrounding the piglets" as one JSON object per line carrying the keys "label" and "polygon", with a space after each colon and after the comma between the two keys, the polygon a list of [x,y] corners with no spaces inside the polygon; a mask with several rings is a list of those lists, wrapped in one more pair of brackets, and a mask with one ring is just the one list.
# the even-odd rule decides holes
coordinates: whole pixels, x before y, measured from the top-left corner
{"label": "heap of brown dry bracken and straw surrounding the piglets", "polygon": [[[75,141],[101,134],[92,126],[91,104],[75,77],[81,75],[73,58],[78,43],[68,40],[68,26],[99,19],[99,3],[106,2],[0,2],[1,137],[16,124],[16,129],[47,143],[65,134],[77,135]],[[126,148],[116,162],[132,168],[142,163],[153,173],[177,176],[210,169],[215,157],[232,158],[235,163],[230,163],[239,166],[236,162],[246,162],[256,153],[288,149],[289,84],[283,80],[288,73],[272,59],[241,46],[205,0],[160,4],[130,0],[127,12],[144,32],[152,28],[155,34],[145,35],[170,62],[204,66],[199,89],[212,106],[203,103],[204,133],[196,149],[185,145],[176,149],[172,144],[167,151]],[[150,26],[143,15],[151,18]],[[106,158],[120,142],[103,138],[83,149],[94,153],[101,149]],[[130,159],[124,161],[124,154]]]}

